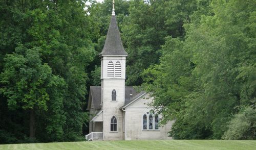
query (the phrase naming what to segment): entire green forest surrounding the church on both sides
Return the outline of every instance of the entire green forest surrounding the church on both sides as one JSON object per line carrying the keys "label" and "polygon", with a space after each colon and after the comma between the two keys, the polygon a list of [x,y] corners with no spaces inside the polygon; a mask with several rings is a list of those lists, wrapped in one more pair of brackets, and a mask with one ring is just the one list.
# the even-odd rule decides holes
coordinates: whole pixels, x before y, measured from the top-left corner
{"label": "entire green forest surrounding the church on both sides", "polygon": [[[115,1],[126,85],[155,97],[175,139],[255,139],[254,0]],[[0,143],[84,140],[112,10],[0,0]],[[160,109],[159,109],[160,108]]]}

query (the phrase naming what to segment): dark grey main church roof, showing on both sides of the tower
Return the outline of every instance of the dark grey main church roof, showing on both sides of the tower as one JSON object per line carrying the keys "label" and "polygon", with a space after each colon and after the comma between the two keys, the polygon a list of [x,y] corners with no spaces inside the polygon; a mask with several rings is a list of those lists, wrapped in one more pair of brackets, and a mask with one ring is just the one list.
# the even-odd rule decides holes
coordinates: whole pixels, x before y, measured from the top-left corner
{"label": "dark grey main church roof, showing on both sides of the tower", "polygon": [[[126,86],[125,87],[125,101],[124,105],[132,102],[135,98],[139,97],[140,95],[144,94],[144,91],[137,92],[134,87]],[[90,87],[90,94],[89,97],[88,107],[89,110],[91,107],[91,103],[93,103],[94,109],[101,109],[100,101],[101,101],[101,86],[91,86]],[[132,95],[130,95],[132,94]],[[89,106],[90,105],[90,106]]]}

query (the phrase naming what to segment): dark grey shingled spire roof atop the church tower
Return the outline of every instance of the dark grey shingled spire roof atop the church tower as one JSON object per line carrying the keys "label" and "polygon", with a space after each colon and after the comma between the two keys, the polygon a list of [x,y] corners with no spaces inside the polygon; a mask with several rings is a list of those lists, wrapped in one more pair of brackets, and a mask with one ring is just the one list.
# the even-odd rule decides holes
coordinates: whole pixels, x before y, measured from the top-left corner
{"label": "dark grey shingled spire roof atop the church tower", "polygon": [[127,55],[124,51],[120,33],[118,30],[116,16],[111,17],[110,27],[106,35],[105,44],[99,55]]}

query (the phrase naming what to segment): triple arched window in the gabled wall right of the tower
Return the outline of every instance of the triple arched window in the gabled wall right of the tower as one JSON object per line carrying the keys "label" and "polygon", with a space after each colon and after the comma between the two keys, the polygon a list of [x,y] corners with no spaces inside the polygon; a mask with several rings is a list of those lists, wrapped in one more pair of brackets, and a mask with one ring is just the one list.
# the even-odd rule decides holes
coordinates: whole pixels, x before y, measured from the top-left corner
{"label": "triple arched window in the gabled wall right of the tower", "polygon": [[143,130],[159,130],[159,117],[158,115],[145,113],[142,118]]}

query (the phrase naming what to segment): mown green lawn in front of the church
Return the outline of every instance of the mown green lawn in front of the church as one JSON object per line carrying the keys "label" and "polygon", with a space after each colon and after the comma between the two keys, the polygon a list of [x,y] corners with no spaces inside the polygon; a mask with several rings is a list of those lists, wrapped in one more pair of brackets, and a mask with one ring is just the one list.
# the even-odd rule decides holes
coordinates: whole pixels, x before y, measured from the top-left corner
{"label": "mown green lawn in front of the church", "polygon": [[256,140],[137,140],[3,144],[0,149],[256,149]]}

